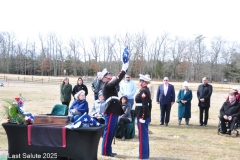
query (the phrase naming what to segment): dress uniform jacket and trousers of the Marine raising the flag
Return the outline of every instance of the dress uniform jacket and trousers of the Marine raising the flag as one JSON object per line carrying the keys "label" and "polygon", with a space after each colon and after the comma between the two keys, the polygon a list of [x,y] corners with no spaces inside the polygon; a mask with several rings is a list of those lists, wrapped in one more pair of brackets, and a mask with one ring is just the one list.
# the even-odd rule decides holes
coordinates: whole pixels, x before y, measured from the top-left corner
{"label": "dress uniform jacket and trousers of the Marine raising the flag", "polygon": [[104,112],[106,127],[103,133],[102,155],[112,154],[112,140],[117,127],[118,116],[124,113],[115,87],[120,83],[125,74],[125,71],[121,71],[115,80],[106,82],[103,86],[103,96],[106,101]]}

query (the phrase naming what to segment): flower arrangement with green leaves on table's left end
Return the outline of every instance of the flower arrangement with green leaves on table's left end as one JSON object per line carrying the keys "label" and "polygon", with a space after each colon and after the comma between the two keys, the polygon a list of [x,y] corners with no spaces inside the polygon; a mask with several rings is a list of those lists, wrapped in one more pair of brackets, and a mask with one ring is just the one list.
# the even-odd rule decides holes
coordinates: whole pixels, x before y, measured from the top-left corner
{"label": "flower arrangement with green leaves on table's left end", "polygon": [[31,124],[33,123],[34,116],[31,113],[25,112],[23,105],[25,99],[19,94],[19,97],[14,100],[4,100],[7,105],[4,106],[7,115],[7,121],[17,124]]}

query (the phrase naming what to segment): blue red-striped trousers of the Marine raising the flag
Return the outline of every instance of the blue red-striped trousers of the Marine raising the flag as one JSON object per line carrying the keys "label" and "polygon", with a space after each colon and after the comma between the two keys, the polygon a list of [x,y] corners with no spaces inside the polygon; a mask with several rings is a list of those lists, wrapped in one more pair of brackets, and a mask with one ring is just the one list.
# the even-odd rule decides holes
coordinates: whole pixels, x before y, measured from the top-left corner
{"label": "blue red-striped trousers of the Marine raising the flag", "polygon": [[105,118],[105,129],[103,132],[102,139],[102,155],[112,154],[112,140],[117,127],[118,116],[112,113],[104,115]]}

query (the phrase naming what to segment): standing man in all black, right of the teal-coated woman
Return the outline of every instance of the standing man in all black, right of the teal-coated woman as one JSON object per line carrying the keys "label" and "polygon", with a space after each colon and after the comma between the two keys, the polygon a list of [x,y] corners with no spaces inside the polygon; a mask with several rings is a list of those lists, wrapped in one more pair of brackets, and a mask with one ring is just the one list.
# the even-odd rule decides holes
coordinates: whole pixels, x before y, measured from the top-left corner
{"label": "standing man in all black, right of the teal-coated woman", "polygon": [[[198,86],[197,97],[199,106],[199,126],[207,126],[208,111],[210,108],[210,98],[212,95],[212,85],[208,84],[207,77],[203,77],[202,84]],[[205,112],[203,121],[203,112]]]}

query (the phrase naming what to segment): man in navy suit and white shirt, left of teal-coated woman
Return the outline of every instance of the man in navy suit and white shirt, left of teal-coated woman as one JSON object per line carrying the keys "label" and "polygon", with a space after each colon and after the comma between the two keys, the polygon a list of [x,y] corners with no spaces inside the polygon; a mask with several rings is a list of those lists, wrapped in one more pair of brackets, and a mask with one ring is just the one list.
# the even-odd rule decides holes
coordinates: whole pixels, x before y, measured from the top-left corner
{"label": "man in navy suit and white shirt, left of teal-coated woman", "polygon": [[170,119],[171,107],[175,102],[174,86],[169,84],[168,77],[163,78],[163,84],[158,86],[157,89],[157,103],[160,104],[161,120],[160,125],[168,126]]}

